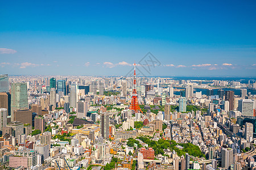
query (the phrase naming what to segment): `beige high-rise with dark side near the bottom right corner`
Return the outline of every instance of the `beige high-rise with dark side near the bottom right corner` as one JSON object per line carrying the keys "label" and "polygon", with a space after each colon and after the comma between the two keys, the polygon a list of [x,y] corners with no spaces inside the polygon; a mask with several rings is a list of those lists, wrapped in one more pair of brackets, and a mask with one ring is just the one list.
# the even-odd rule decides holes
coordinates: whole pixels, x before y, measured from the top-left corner
{"label": "beige high-rise with dark side near the bottom right corner", "polygon": [[229,169],[230,165],[233,164],[233,149],[232,148],[221,148],[221,168]]}

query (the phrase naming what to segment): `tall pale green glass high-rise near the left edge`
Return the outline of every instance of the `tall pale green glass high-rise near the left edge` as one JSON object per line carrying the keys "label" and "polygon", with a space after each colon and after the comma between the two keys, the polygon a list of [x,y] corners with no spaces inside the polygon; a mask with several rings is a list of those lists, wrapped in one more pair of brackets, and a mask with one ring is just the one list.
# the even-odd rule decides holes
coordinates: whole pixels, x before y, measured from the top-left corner
{"label": "tall pale green glass high-rise near the left edge", "polygon": [[11,84],[11,121],[14,121],[14,111],[28,109],[27,83]]}

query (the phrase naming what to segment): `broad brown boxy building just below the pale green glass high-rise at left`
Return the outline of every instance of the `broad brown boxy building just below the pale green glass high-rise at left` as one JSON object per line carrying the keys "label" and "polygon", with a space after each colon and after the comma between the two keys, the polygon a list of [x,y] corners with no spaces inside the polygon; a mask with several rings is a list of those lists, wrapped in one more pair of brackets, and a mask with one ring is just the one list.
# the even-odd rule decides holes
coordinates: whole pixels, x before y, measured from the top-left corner
{"label": "broad brown boxy building just below the pale green glass high-rise at left", "polygon": [[32,125],[32,111],[29,109],[14,111],[14,121]]}

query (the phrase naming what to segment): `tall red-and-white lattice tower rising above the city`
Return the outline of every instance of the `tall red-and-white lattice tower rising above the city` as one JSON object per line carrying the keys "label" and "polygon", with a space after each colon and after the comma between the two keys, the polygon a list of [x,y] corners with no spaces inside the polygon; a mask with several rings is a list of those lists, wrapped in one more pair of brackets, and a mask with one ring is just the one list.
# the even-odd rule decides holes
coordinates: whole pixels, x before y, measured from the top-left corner
{"label": "tall red-and-white lattice tower rising above the city", "polygon": [[135,73],[135,63],[134,63],[134,74],[133,74],[133,93],[131,94],[132,98],[131,98],[131,105],[130,108],[131,110],[133,110],[135,113],[141,111],[141,108],[139,107],[138,104],[138,95],[137,95],[137,83],[136,83],[136,73]]}

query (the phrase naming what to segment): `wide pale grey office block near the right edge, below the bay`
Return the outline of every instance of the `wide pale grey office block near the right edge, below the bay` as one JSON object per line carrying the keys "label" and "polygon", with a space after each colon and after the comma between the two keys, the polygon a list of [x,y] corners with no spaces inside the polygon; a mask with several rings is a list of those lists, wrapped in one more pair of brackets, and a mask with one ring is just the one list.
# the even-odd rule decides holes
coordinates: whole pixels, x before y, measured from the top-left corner
{"label": "wide pale grey office block near the right edge, below the bay", "polygon": [[242,113],[242,116],[253,116],[254,101],[250,99],[238,100],[238,111]]}

